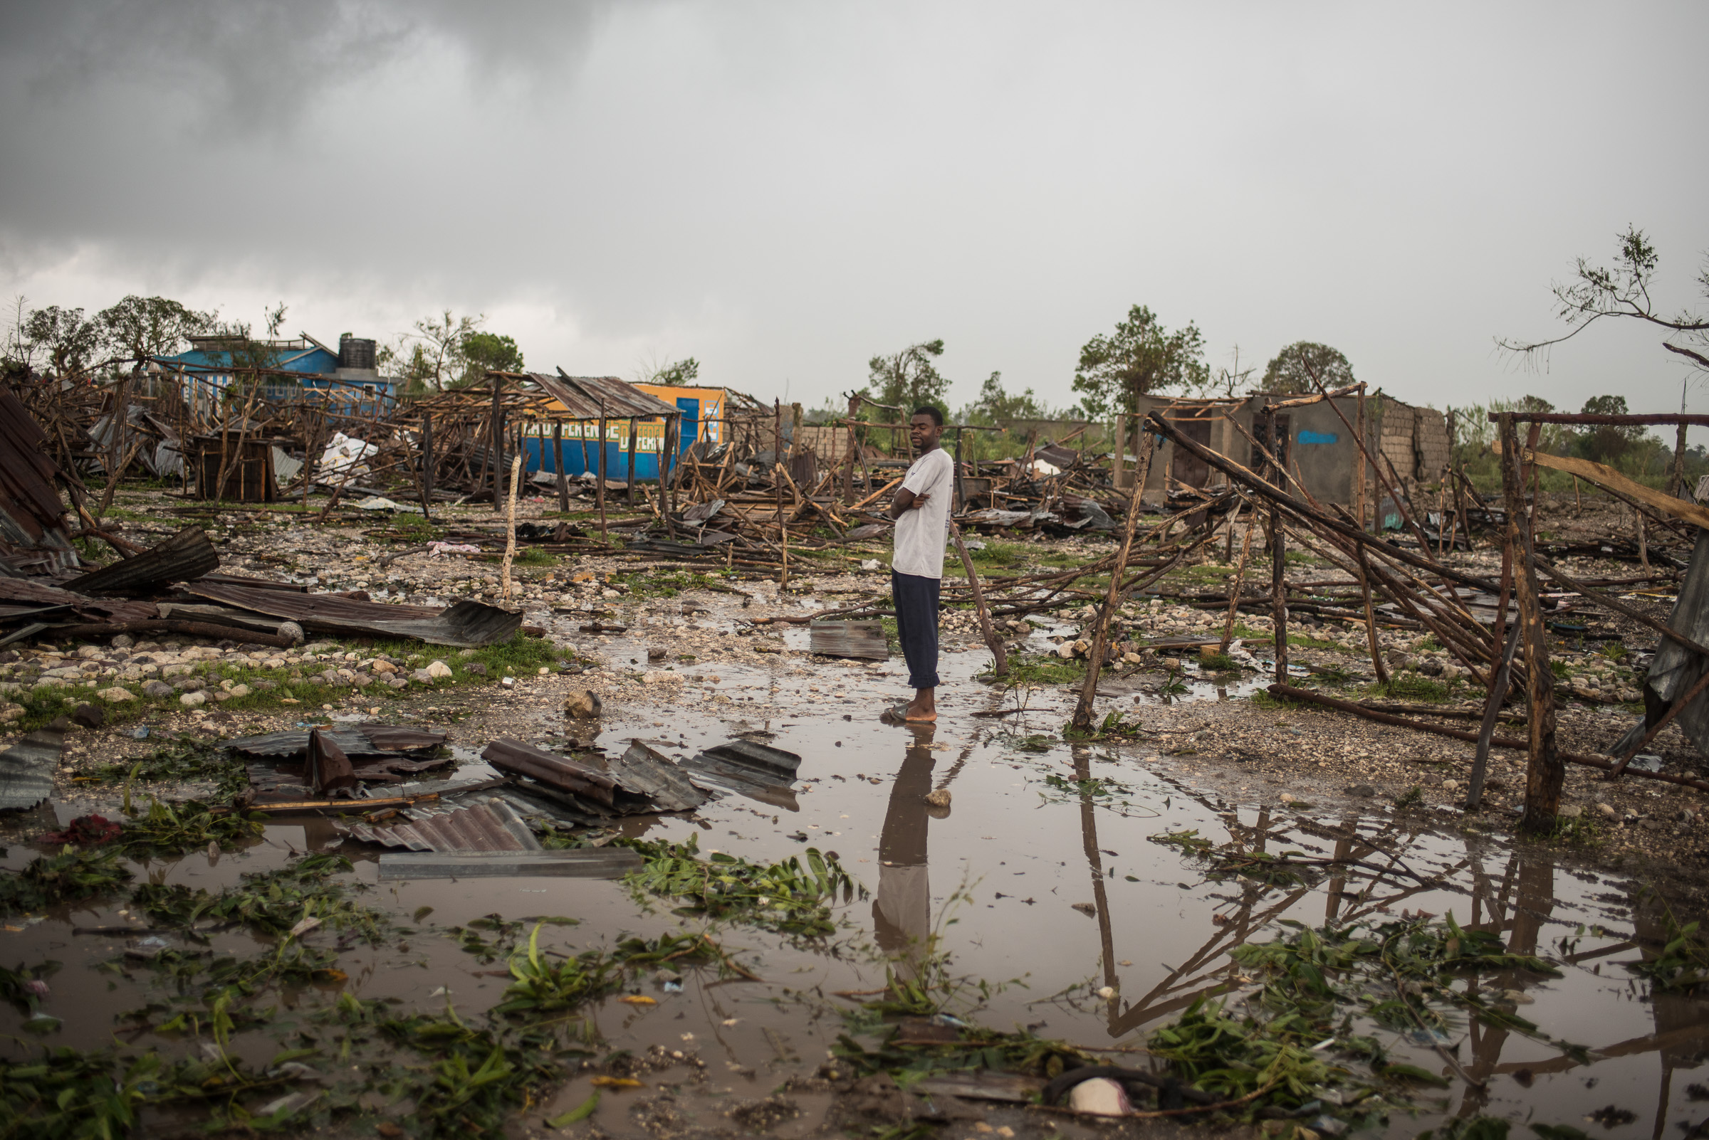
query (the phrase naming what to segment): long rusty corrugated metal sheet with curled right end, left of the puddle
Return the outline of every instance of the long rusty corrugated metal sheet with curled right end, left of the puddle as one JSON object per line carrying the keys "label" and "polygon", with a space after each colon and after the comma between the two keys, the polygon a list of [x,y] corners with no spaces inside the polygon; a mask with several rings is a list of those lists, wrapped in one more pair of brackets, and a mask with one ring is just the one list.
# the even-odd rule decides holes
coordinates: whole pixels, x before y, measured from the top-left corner
{"label": "long rusty corrugated metal sheet with curled right end, left of the puddle", "polygon": [[296,621],[314,633],[414,637],[429,645],[475,649],[506,642],[523,625],[520,611],[511,613],[470,599],[463,599],[449,609],[434,609],[432,606],[359,602],[354,597],[337,594],[291,594],[210,582],[190,582],[185,589],[197,597]]}

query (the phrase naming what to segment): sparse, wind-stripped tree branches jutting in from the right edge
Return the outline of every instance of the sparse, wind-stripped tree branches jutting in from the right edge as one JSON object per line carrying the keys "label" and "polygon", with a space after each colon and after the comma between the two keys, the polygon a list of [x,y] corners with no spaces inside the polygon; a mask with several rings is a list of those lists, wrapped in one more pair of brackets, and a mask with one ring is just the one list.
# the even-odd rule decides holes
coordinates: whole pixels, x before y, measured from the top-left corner
{"label": "sparse, wind-stripped tree branches jutting in from the right edge", "polygon": [[[1685,357],[1697,374],[1695,379],[1704,379],[1709,375],[1709,314],[1690,309],[1680,309],[1675,316],[1663,314],[1649,295],[1661,259],[1656,247],[1636,225],[1629,225],[1618,241],[1620,253],[1612,270],[1579,258],[1572,280],[1553,285],[1555,316],[1572,328],[1571,333],[1538,341],[1497,338],[1495,345],[1526,362],[1542,360],[1547,365],[1555,345],[1572,340],[1603,317],[1625,317],[1663,329],[1661,346]],[[1709,297],[1709,268],[1697,275],[1697,285],[1704,297]],[[1680,386],[1680,411],[1685,411],[1690,381],[1692,377],[1687,377]]]}

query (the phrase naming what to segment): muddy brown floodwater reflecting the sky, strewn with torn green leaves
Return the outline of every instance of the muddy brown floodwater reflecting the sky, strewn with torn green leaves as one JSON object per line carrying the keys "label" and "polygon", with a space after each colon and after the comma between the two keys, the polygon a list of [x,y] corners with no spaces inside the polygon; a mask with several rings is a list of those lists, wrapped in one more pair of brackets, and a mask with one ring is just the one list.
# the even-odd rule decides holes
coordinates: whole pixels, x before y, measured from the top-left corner
{"label": "muddy brown floodwater reflecting the sky, strewn with torn green leaves", "polygon": [[[612,659],[639,655],[641,645],[614,642],[607,652]],[[964,1009],[966,1015],[1087,1048],[1125,1050],[1142,1044],[1150,1029],[1195,998],[1237,990],[1229,949],[1273,937],[1278,920],[1321,925],[1425,911],[1499,930],[1512,951],[1560,963],[1559,980],[1512,974],[1489,978],[1485,986],[1509,990],[1506,997],[1521,1015],[1560,1039],[1589,1046],[1593,1060],[1574,1063],[1528,1038],[1461,1024],[1451,1032],[1458,1060],[1485,1087],[1456,1080],[1451,1089],[1422,1096],[1427,1111],[1417,1120],[1396,1116],[1391,1135],[1413,1135],[1442,1114],[1477,1111],[1571,1123],[1610,1137],[1677,1135],[1671,1126],[1709,1116],[1709,1106],[1697,1104],[1692,1091],[1702,1079],[1695,1068],[1709,1058],[1709,1007],[1651,998],[1620,968],[1639,954],[1634,937],[1661,934],[1658,910],[1641,903],[1642,884],[1560,865],[1553,862],[1559,852],[1514,852],[1504,840],[1446,814],[1395,816],[1372,800],[1282,806],[1277,788],[1261,782],[1242,785],[1236,776],[1219,785],[1196,758],[1162,754],[1166,741],[1065,746],[1049,737],[1060,732],[1068,695],[1048,688],[1001,695],[971,683],[983,654],[945,657],[942,720],[931,727],[878,720],[885,698],[906,693],[901,662],[807,667],[796,660],[709,667],[704,672],[719,676],[716,691],[728,703],[682,700],[668,708],[634,710],[608,720],[600,737],[610,749],[643,739],[665,754],[689,756],[735,732],[750,732],[757,734],[752,739],[802,754],[793,809],[723,795],[692,817],[634,821],[627,829],[648,838],[696,835],[702,852],[754,860],[796,855],[812,845],[836,852],[868,893],[839,906],[848,930],[827,947],[800,949],[771,935],[726,930],[726,947],[745,947],[742,961],[764,978],[761,983],[714,985],[711,976],[690,973],[680,992],[646,981],[644,992],[660,1002],[655,1007],[608,1002],[596,1009],[610,1048],[641,1053],[661,1046],[684,1058],[697,1055],[706,1065],[706,1080],[690,1082],[673,1113],[704,1126],[728,1126],[723,1113],[731,1104],[764,1097],[786,1077],[810,1073],[844,1031],[837,1009],[849,1002],[834,992],[875,990],[887,966],[911,973],[935,932],[940,949],[952,956],[952,974],[1010,983],[983,1005]],[[1154,700],[1162,698],[1140,693],[1142,705]],[[1195,683],[1167,700],[1213,701],[1219,693],[1213,683]],[[1019,703],[1025,713],[972,715]],[[562,727],[542,710],[540,739]],[[479,771],[473,761],[461,775]],[[933,788],[950,792],[947,809],[926,806],[923,797]],[[1412,874],[1350,869],[1314,887],[1207,882],[1193,860],[1148,841],[1181,829],[1271,853],[1364,855],[1369,864],[1393,862]],[[243,855],[193,855],[137,870],[138,879],[215,887],[241,870],[275,867],[292,850],[332,846],[359,860],[357,877],[373,884],[369,904],[391,908],[403,922],[417,908],[432,913],[407,939],[407,952],[349,951],[340,957],[349,974],[342,986],[292,992],[285,995],[289,1009],[313,1009],[342,988],[369,998],[396,997],[422,1010],[451,1003],[460,1014],[479,1014],[506,985],[492,976],[502,961],[477,961],[444,937],[444,928],[484,915],[576,918],[579,925],[547,927],[542,935],[545,945],[564,951],[678,925],[675,916],[637,904],[617,882],[381,884],[376,852],[340,846],[325,821],[280,823]],[[14,846],[5,865],[22,865],[31,855]],[[92,969],[116,957],[128,939],[72,934],[72,927],[133,922],[115,908],[92,906],[14,922],[21,928],[0,935],[9,963],[63,963],[46,1003],[63,1024],[46,1041],[99,1046],[111,1039],[116,1014],[149,1000],[145,974],[126,980]],[[220,935],[214,949],[261,947],[244,935]],[[1113,997],[1099,997],[1106,986]],[[19,1032],[19,1021],[7,1010],[0,1032]],[[277,1048],[265,1034],[248,1036],[253,1039],[246,1043],[239,1034],[238,1044],[251,1060],[265,1061]],[[140,1044],[149,1041],[147,1034],[138,1038]],[[1427,1046],[1393,1032],[1384,1041],[1398,1058],[1448,1073]],[[183,1041],[159,1044],[193,1048]],[[19,1050],[15,1043],[0,1048]],[[689,1075],[685,1061],[675,1077],[667,1070],[649,1082]],[[584,1077],[573,1079],[525,1123],[574,1108],[588,1091]],[[644,1135],[643,1118],[655,1111],[641,1108],[653,1104],[648,1096],[608,1094],[591,1123],[612,1135]],[[1610,1104],[1636,1118],[1612,1126],[1584,1123]],[[778,1126],[776,1135],[817,1128],[812,1097],[803,1108],[807,1114]]]}

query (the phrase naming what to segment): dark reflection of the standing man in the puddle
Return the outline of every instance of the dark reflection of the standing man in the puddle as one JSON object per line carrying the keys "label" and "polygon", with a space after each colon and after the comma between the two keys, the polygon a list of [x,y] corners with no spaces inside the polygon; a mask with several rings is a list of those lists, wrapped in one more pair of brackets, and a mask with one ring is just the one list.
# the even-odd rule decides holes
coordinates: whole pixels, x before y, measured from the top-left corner
{"label": "dark reflection of the standing man in the puddle", "polygon": [[918,978],[931,937],[931,884],[926,875],[926,828],[948,809],[926,804],[931,792],[935,725],[907,725],[913,742],[890,785],[890,807],[878,838],[878,896],[872,922],[878,947],[896,959],[899,978]]}

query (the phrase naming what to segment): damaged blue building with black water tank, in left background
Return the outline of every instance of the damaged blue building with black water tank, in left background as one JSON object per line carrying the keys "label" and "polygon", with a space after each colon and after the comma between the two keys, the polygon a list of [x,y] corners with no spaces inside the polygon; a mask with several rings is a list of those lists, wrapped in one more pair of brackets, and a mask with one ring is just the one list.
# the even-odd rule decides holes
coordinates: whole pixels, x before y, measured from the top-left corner
{"label": "damaged blue building with black water tank, in left background", "polygon": [[[328,348],[308,333],[294,340],[246,340],[191,336],[190,352],[159,357],[162,369],[195,377],[191,399],[212,404],[231,384],[236,369],[261,367],[270,374],[261,396],[279,403],[323,401],[340,411],[390,410],[398,398],[398,379],[379,375],[374,341],[345,333],[338,348]],[[232,369],[232,370],[227,370]]]}

